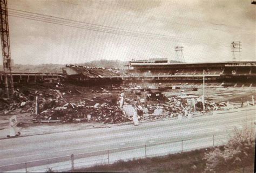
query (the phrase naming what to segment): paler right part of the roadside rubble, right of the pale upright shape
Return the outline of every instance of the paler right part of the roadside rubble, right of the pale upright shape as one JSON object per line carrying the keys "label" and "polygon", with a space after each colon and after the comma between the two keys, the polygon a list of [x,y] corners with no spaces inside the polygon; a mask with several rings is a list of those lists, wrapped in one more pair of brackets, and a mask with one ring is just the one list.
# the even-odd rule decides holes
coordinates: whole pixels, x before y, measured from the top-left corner
{"label": "paler right part of the roadside rubble, right of the pale upright shape", "polygon": [[[139,120],[157,120],[178,116],[191,117],[194,114],[203,113],[203,99],[201,97],[181,93],[180,95],[171,94],[167,98],[161,91],[163,89],[152,90],[130,86],[129,89],[126,89],[127,97],[136,96],[133,99],[125,96],[124,105],[132,105],[137,110]],[[222,106],[206,100],[204,105],[205,112],[218,110]]]}

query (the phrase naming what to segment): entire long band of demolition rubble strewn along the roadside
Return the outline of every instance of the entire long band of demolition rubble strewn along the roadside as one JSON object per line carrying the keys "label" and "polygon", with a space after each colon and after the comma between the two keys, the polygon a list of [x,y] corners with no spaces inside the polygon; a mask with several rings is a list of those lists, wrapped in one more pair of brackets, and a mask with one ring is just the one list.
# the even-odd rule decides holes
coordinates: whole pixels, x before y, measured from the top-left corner
{"label": "entire long band of demolition rubble strewn along the roadside", "polygon": [[[57,89],[17,89],[12,99],[0,99],[0,111],[5,114],[19,110],[19,112],[31,112],[35,123],[40,122],[100,122],[121,123],[133,121],[159,120],[186,117],[212,112],[218,109],[235,108],[229,102],[204,101],[198,96],[170,95],[166,92],[173,87],[161,87],[160,89],[143,88],[139,85],[112,86],[113,90],[100,87],[90,89],[87,94],[98,93],[99,96],[83,98],[79,100],[68,99],[67,95],[84,93],[79,89],[63,91],[63,84],[57,84]],[[106,96],[102,96],[106,95]],[[37,107],[35,100],[37,100]],[[243,103],[244,106],[249,103]]]}

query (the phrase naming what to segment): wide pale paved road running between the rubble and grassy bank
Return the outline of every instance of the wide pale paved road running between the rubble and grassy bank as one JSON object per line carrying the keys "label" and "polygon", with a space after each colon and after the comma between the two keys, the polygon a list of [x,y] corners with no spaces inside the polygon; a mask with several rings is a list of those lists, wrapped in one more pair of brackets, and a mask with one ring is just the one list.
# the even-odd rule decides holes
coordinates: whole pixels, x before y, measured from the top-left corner
{"label": "wide pale paved road running between the rubble and grassy bank", "polygon": [[[192,150],[212,146],[213,135],[214,145],[217,146],[227,142],[235,126],[242,128],[247,124],[254,128],[254,121],[255,107],[241,112],[147,122],[139,126],[125,125],[0,140],[0,171],[25,171],[25,162],[28,162],[28,167],[41,166],[43,170],[47,168],[45,165],[53,163],[58,164],[59,168],[69,164],[70,168],[72,153],[77,165],[79,161],[89,164],[89,160],[106,163],[105,150],[108,149],[111,163],[119,159],[145,157],[145,154],[157,156],[178,153],[181,149]],[[184,140],[182,147],[181,140]],[[145,144],[146,153],[143,147]],[[48,160],[53,157],[55,159]]]}

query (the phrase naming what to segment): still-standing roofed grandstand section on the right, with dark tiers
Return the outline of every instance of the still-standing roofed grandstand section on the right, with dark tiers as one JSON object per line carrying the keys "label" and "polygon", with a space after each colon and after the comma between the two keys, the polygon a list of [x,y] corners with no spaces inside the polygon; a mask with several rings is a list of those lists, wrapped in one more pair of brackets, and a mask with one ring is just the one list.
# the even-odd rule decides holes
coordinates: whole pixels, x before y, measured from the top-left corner
{"label": "still-standing roofed grandstand section on the right, with dark tiers", "polygon": [[129,75],[142,80],[199,81],[230,85],[254,86],[256,61],[232,61],[220,63],[152,63],[130,61]]}

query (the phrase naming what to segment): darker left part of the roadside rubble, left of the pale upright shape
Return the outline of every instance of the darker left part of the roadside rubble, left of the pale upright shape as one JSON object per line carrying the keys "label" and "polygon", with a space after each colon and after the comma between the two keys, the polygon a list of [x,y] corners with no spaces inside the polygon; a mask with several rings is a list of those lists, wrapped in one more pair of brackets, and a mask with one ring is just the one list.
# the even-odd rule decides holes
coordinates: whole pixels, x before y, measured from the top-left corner
{"label": "darker left part of the roadside rubble, left of the pale upright shape", "polygon": [[[62,84],[57,85],[58,87],[62,86]],[[61,90],[61,88],[59,89]],[[100,92],[109,93],[104,88],[100,88]],[[119,123],[131,121],[125,116],[123,110],[117,106],[116,96],[110,94],[109,98],[97,96],[92,99],[84,98],[79,101],[74,101],[70,97],[64,99],[66,95],[72,95],[70,93],[83,94],[78,89],[72,89],[72,91],[70,90],[67,93],[60,92],[58,89],[46,89],[45,91],[31,88],[30,91],[26,89],[20,91],[17,89],[12,99],[0,99],[0,110],[4,114],[13,111],[21,113],[31,112],[35,116],[34,122],[68,123],[96,121]]]}

